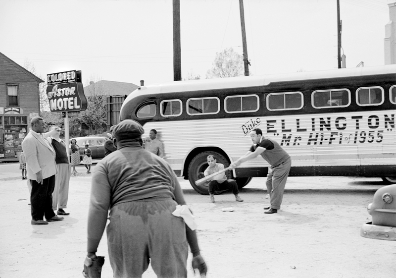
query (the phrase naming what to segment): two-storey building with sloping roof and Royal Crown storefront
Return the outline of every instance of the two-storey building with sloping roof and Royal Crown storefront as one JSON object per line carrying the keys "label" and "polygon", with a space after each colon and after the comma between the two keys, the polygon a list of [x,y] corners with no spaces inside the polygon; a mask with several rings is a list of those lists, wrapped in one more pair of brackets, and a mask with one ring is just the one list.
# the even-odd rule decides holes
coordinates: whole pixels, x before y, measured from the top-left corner
{"label": "two-storey building with sloping roof and Royal Crown storefront", "polygon": [[15,161],[30,128],[40,115],[39,84],[44,82],[0,53],[0,162]]}

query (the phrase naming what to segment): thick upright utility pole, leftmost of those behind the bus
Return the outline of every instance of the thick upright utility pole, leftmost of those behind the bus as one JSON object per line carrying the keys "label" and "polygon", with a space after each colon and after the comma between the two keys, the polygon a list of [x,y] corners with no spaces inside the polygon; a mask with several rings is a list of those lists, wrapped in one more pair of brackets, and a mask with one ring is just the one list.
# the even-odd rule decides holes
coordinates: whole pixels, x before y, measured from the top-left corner
{"label": "thick upright utility pole, leftmost of those behind the bus", "polygon": [[180,0],[173,0],[173,81],[182,80],[182,49],[180,44]]}

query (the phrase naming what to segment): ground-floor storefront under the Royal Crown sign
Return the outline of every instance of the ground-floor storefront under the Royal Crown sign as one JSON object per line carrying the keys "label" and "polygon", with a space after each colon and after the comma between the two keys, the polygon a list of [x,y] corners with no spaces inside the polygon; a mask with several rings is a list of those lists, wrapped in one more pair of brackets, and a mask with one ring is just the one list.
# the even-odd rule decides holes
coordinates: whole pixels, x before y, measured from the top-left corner
{"label": "ground-floor storefront under the Royal Crown sign", "polygon": [[0,108],[0,160],[17,160],[28,132],[28,116],[21,109]]}

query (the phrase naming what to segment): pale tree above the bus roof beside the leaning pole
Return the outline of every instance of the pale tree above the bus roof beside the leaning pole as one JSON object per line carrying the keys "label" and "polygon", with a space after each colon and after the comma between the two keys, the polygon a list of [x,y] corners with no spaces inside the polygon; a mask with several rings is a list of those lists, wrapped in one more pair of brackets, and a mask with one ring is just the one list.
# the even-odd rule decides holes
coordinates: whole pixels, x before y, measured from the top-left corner
{"label": "pale tree above the bus roof beside the leaning pole", "polygon": [[234,77],[244,74],[244,57],[233,48],[216,53],[212,68],[206,73],[206,78]]}

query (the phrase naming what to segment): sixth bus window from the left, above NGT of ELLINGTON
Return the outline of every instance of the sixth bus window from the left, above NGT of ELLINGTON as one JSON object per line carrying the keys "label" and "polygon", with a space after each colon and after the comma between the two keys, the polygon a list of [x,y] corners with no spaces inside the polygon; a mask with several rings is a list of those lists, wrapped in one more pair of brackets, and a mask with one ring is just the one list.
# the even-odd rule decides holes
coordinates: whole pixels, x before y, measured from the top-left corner
{"label": "sixth bus window from the left, above NGT of ELLINGTON", "polygon": [[318,90],[312,93],[312,107],[333,108],[347,107],[350,103],[350,91],[340,90]]}

